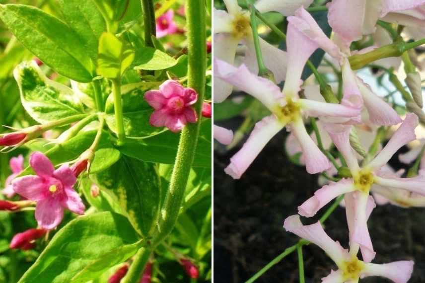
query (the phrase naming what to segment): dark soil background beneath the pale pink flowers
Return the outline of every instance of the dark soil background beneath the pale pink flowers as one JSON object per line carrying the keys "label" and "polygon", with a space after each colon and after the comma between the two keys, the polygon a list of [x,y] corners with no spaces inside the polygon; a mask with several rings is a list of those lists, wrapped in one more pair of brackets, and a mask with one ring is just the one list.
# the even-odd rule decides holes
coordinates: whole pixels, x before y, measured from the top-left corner
{"label": "dark soil background beneath the pale pink flowers", "polygon": [[[225,125],[229,126],[229,125]],[[215,144],[214,152],[214,282],[243,283],[293,245],[298,238],[283,229],[283,220],[319,188],[317,175],[309,175],[283,153],[286,134],[279,133],[260,153],[240,180],[223,169],[240,148],[226,152]],[[403,151],[403,149],[402,149]],[[390,163],[396,169],[396,158]],[[323,208],[318,217],[325,212]],[[318,220],[302,217],[304,224]],[[373,263],[414,260],[410,283],[425,282],[425,209],[378,206],[368,227],[377,255]],[[326,221],[326,232],[348,248],[348,228],[343,208]],[[317,246],[303,247],[305,282],[318,283],[336,266]],[[266,272],[258,283],[298,282],[296,253]],[[362,283],[390,282],[378,277]]]}

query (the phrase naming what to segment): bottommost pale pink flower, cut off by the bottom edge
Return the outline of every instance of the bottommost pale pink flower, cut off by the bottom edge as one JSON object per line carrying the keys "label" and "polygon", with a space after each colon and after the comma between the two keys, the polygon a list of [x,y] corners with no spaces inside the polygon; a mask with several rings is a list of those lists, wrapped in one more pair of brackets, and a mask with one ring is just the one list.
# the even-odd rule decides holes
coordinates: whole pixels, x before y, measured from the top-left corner
{"label": "bottommost pale pink flower, cut off by the bottom edge", "polygon": [[338,270],[331,270],[327,277],[322,278],[322,283],[352,283],[369,276],[385,277],[395,283],[407,283],[412,276],[413,261],[396,261],[387,264],[361,261],[351,248],[348,251],[339,242],[332,240],[319,221],[311,225],[303,225],[298,215],[291,215],[285,219],[283,227],[286,231],[319,246],[335,262]]}

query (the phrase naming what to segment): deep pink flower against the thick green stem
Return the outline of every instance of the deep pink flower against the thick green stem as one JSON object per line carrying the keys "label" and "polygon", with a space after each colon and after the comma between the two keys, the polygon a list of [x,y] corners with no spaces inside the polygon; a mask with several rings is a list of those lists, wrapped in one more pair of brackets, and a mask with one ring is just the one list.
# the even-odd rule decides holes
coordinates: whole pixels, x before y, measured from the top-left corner
{"label": "deep pink flower against the thick green stem", "polygon": [[144,99],[155,111],[149,119],[153,127],[167,127],[171,132],[180,132],[187,123],[196,123],[198,117],[192,105],[198,94],[192,88],[184,88],[174,80],[166,80],[159,90],[149,90]]}

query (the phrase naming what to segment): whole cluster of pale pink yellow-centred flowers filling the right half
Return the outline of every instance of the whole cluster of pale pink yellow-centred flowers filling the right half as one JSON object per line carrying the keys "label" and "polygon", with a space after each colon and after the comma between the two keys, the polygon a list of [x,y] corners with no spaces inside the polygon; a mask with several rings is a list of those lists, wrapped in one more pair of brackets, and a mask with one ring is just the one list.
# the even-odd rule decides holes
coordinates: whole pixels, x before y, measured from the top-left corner
{"label": "whole cluster of pale pink yellow-centred flowers filling the right half", "polygon": [[[396,283],[405,283],[411,277],[413,261],[371,263],[376,252],[369,236],[367,219],[376,206],[375,202],[390,202],[402,207],[425,204],[425,171],[419,170],[417,175],[402,178],[403,172],[393,172],[387,165],[402,146],[416,140],[415,128],[419,120],[412,113],[402,119],[391,105],[373,93],[371,87],[353,71],[349,57],[378,47],[372,46],[357,52],[350,49],[354,41],[377,30],[378,19],[397,23],[405,19],[403,24],[410,25],[414,21],[406,15],[414,13],[407,11],[419,9],[425,1],[384,0],[378,3],[367,0],[332,0],[327,5],[329,25],[334,32],[332,39],[304,8],[312,1],[289,2],[291,3],[260,0],[255,4],[259,12],[280,11],[287,16],[286,52],[261,38],[257,47],[263,56],[265,67],[273,72],[275,81],[257,75],[259,67],[249,12],[242,10],[237,1],[233,0],[225,1],[227,12],[214,10],[214,19],[218,23],[214,30],[214,102],[224,101],[235,87],[253,96],[271,112],[270,116],[255,125],[242,148],[230,158],[225,172],[235,179],[241,178],[266,144],[286,128],[290,131],[286,150],[290,155],[300,152],[299,163],[305,165],[308,173],[344,173],[301,204],[298,214],[311,217],[330,201],[344,195],[350,236],[349,251],[333,241],[320,222],[303,225],[299,215],[289,216],[284,221],[287,231],[317,244],[337,265],[338,270],[331,271],[322,282],[358,282],[360,278],[381,276]],[[240,44],[244,47],[245,57],[242,64],[236,67],[235,53]],[[334,97],[337,99],[336,103],[325,101],[323,97],[326,98],[326,89],[320,81],[320,86],[316,86],[301,80],[307,60],[318,48],[324,50],[329,60],[335,63],[334,67],[341,71],[342,96],[339,99]],[[258,53],[257,50],[257,55]],[[281,90],[278,84],[283,80]],[[422,100],[414,100],[422,107],[419,102]],[[312,135],[308,134],[305,127],[307,117],[313,117],[310,119],[315,124],[318,118],[317,125],[320,125],[315,126],[317,131]],[[385,146],[373,144],[374,137],[379,135],[379,127],[394,125],[398,125],[398,129]],[[370,141],[357,135],[364,128],[371,132],[368,134],[372,137],[369,138]],[[318,146],[320,136],[326,141],[321,140]],[[229,144],[233,137],[231,131],[214,126],[214,138],[223,144]],[[333,156],[329,156],[332,155],[329,151],[326,152],[332,143],[338,149],[341,160],[335,160]],[[422,145],[416,145],[411,151],[400,155],[400,160],[410,163],[417,159],[424,153],[423,143],[422,141]],[[374,150],[366,153],[363,147],[369,146],[374,146]],[[424,168],[424,162],[422,158],[421,169]],[[362,260],[357,258],[358,251],[361,252]]]}

